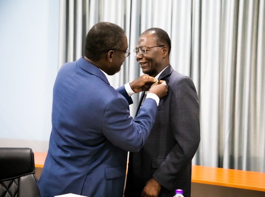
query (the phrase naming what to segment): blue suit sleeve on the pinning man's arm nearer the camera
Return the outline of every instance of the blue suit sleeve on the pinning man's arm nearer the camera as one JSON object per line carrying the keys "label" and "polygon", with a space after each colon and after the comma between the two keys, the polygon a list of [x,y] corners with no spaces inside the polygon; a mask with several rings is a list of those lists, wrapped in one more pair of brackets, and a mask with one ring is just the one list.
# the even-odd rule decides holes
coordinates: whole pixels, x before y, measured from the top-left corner
{"label": "blue suit sleeve on the pinning man's arm nearer the camera", "polygon": [[102,131],[107,139],[126,151],[139,151],[150,134],[157,114],[154,99],[146,99],[138,115],[129,115],[128,103],[123,97],[112,99],[105,110]]}

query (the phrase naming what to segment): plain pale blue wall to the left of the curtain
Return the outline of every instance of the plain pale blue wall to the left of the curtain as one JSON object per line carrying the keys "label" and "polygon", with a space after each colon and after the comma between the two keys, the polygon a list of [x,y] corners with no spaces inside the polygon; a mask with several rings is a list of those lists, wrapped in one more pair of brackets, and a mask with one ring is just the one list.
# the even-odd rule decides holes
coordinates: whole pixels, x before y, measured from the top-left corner
{"label": "plain pale blue wall to the left of the curtain", "polygon": [[49,140],[58,40],[59,1],[0,0],[2,141]]}

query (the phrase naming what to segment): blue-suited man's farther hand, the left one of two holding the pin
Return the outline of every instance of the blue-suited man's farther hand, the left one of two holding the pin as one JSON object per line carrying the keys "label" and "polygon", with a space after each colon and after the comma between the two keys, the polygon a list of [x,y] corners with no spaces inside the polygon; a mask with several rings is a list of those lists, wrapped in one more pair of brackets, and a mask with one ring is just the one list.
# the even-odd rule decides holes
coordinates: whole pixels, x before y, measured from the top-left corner
{"label": "blue-suited man's farther hand, the left one of two holding the pin", "polygon": [[141,77],[138,77],[133,82],[131,82],[130,86],[135,93],[138,93],[149,90],[151,85],[156,81],[157,80],[154,77],[151,77],[149,75],[142,75]]}

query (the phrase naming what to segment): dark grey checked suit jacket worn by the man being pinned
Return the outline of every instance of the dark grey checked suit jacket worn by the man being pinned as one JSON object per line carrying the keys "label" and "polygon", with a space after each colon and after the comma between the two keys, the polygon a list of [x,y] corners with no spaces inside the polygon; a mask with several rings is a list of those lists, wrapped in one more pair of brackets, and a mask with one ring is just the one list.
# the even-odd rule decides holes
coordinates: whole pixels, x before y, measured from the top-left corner
{"label": "dark grey checked suit jacket worn by the man being pinned", "polygon": [[190,196],[191,160],[200,143],[196,88],[191,78],[174,71],[171,65],[160,79],[168,84],[168,94],[159,101],[146,143],[139,152],[130,153],[125,197],[140,196],[152,177],[162,186],[159,196],[174,196],[176,189]]}

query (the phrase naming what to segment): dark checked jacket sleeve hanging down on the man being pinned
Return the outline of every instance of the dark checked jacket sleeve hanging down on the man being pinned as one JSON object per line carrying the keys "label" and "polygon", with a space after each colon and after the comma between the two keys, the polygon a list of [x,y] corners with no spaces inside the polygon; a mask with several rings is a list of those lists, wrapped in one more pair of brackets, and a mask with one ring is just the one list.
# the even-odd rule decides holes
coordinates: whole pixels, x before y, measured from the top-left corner
{"label": "dark checked jacket sleeve hanging down on the man being pinned", "polygon": [[170,98],[170,122],[176,145],[157,168],[153,177],[172,190],[190,164],[200,143],[199,102],[196,88],[189,77],[179,79]]}

